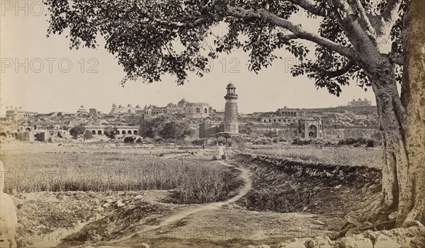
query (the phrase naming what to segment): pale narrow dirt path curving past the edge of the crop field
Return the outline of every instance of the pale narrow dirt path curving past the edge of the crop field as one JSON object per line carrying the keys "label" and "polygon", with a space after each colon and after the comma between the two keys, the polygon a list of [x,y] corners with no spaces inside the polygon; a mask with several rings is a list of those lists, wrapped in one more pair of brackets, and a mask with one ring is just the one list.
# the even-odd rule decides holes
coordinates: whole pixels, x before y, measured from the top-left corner
{"label": "pale narrow dirt path curving past the edge of the crop field", "polygon": [[[217,161],[218,163],[225,165],[227,167],[234,167],[233,165],[229,165],[228,163],[225,163],[224,161],[220,160]],[[238,170],[241,171],[240,177],[244,181],[244,187],[242,189],[239,189],[239,192],[236,196],[233,196],[231,199],[228,199],[227,201],[220,201],[215,203],[206,203],[206,204],[199,204],[195,206],[190,206],[188,208],[185,208],[183,211],[179,211],[179,213],[175,213],[173,215],[169,215],[166,218],[159,220],[159,225],[148,225],[143,226],[142,232],[152,232],[154,230],[157,230],[159,228],[163,228],[168,225],[172,225],[174,223],[179,222],[183,218],[188,217],[189,215],[192,215],[194,213],[198,213],[200,211],[207,211],[207,210],[213,210],[220,208],[221,206],[224,206],[226,204],[234,203],[241,199],[246,193],[249,192],[249,190],[252,187],[251,179],[249,178],[249,170],[246,170],[242,167],[238,167]]]}

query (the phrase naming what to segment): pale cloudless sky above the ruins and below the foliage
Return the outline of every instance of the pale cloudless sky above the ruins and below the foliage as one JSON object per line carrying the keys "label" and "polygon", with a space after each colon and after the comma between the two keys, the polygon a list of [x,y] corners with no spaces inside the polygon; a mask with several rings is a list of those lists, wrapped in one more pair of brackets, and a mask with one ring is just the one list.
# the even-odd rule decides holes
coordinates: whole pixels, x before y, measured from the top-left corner
{"label": "pale cloudless sky above the ruins and below the foliage", "polygon": [[[27,12],[16,11],[16,6],[5,5],[5,2],[16,4],[17,1],[1,0],[1,114],[6,113],[6,105],[42,113],[76,112],[80,105],[109,112],[113,103],[164,106],[181,98],[208,102],[222,110],[229,82],[237,87],[238,108],[243,113],[276,111],[283,106],[336,107],[346,105],[353,98],[368,98],[375,105],[372,90],[365,93],[355,82],[344,87],[337,98],[329,95],[325,88],[317,90],[314,82],[305,76],[293,78],[289,64],[295,60],[285,51],[280,52],[285,59],[275,61],[271,68],[263,69],[258,75],[248,71],[247,54],[237,51],[220,54],[212,71],[203,78],[189,74],[190,82],[185,85],[177,86],[173,77],[166,76],[160,83],[129,82],[123,88],[120,80],[125,73],[113,54],[103,48],[102,39],[98,40],[98,49],[70,50],[65,35],[46,37],[48,23],[44,13],[47,9],[40,11],[41,5],[34,4],[37,1],[28,1]],[[318,25],[312,19],[305,21],[302,16],[295,16],[294,20],[303,23],[305,28],[317,30]],[[311,45],[310,50],[313,48]],[[28,72],[26,66],[17,64],[26,64],[26,59]],[[225,68],[220,61],[226,61]],[[67,72],[69,63],[72,67]]]}

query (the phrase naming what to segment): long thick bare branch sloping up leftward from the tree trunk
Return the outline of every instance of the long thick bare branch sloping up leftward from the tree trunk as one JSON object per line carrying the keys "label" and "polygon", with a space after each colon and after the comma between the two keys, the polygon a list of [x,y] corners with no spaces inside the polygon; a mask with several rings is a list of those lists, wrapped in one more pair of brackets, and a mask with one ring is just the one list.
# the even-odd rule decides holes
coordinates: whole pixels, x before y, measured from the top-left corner
{"label": "long thick bare branch sloping up leftward from the tree trunk", "polygon": [[307,32],[307,30],[304,30],[301,25],[295,25],[294,23],[290,22],[289,20],[285,20],[283,18],[280,18],[273,13],[270,13],[268,11],[265,11],[263,9],[260,9],[259,11],[254,10],[246,10],[244,8],[240,7],[231,7],[229,6],[227,8],[227,14],[229,16],[234,16],[237,18],[242,19],[251,19],[251,18],[257,18],[257,19],[263,19],[268,21],[268,23],[277,25],[280,28],[285,28],[292,32],[294,35],[297,36],[297,38],[303,39],[303,40],[310,40],[314,43],[317,43],[318,45],[322,45],[324,47],[327,47],[328,49],[331,49],[334,52],[337,52],[341,54],[344,57],[348,57],[349,59],[354,59],[355,52],[353,49],[349,47],[344,47],[342,45],[339,45],[331,40],[328,40],[320,35]]}

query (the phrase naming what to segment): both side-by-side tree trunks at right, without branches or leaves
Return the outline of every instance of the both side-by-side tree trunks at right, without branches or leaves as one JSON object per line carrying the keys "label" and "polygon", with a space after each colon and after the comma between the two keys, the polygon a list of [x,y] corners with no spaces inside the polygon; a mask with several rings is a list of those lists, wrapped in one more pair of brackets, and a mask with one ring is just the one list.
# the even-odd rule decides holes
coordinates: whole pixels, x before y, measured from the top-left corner
{"label": "both side-by-side tree trunks at right, without branches or leaves", "polygon": [[363,216],[376,221],[397,211],[395,227],[412,220],[425,224],[425,1],[412,0],[404,19],[404,69],[401,98],[394,65],[375,58],[365,70],[378,107],[382,146],[382,195]]}

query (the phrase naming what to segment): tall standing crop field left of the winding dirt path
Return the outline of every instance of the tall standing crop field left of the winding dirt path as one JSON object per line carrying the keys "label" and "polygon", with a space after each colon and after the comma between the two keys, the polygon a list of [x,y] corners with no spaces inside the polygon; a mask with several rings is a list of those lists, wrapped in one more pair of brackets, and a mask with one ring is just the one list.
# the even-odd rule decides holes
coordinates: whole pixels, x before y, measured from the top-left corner
{"label": "tall standing crop field left of the winding dirt path", "polygon": [[212,161],[120,152],[1,153],[8,193],[175,189],[174,203],[226,199],[237,171]]}

